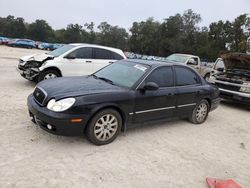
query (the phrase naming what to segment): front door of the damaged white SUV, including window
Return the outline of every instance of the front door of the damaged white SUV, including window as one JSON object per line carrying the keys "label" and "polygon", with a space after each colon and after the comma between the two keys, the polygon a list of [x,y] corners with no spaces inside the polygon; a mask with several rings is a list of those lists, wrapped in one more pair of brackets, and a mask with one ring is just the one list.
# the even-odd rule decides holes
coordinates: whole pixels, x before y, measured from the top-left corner
{"label": "front door of the damaged white SUV, including window", "polygon": [[74,50],[63,58],[58,65],[64,76],[82,76],[92,74],[93,51],[91,47],[82,47]]}

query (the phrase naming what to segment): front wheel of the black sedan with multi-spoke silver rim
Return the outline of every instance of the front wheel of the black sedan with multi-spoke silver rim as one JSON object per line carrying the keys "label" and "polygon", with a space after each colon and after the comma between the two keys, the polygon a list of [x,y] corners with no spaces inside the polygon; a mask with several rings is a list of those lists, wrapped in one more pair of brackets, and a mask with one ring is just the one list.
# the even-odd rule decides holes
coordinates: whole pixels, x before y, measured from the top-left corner
{"label": "front wheel of the black sedan with multi-spoke silver rim", "polygon": [[86,128],[86,136],[95,145],[113,142],[121,131],[122,118],[119,112],[105,109],[98,112]]}

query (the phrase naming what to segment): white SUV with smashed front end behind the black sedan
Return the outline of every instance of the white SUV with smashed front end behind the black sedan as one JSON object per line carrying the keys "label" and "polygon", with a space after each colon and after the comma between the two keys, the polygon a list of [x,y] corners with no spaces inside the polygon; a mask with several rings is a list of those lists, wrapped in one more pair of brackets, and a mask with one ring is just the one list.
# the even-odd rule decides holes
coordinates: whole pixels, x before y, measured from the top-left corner
{"label": "white SUV with smashed front end behind the black sedan", "polygon": [[123,51],[92,44],[67,44],[52,52],[20,58],[18,72],[30,81],[42,81],[61,76],[89,75],[126,59]]}

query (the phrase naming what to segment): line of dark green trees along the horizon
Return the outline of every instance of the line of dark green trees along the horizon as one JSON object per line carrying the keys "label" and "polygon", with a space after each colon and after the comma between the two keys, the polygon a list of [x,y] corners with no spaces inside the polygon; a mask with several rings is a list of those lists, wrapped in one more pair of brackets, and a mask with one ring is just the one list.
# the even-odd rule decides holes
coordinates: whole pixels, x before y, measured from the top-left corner
{"label": "line of dark green trees along the horizon", "polygon": [[[201,16],[191,9],[183,14],[165,18],[163,22],[152,17],[134,22],[129,29],[102,22],[69,24],[65,29],[53,30],[45,20],[25,23],[23,18],[0,17],[0,36],[30,38],[57,43],[95,43],[135,53],[168,56],[172,53],[191,53],[206,59],[216,59],[229,51],[250,50],[250,18],[242,14],[232,22],[213,22],[200,28]],[[249,41],[249,42],[247,42]]]}

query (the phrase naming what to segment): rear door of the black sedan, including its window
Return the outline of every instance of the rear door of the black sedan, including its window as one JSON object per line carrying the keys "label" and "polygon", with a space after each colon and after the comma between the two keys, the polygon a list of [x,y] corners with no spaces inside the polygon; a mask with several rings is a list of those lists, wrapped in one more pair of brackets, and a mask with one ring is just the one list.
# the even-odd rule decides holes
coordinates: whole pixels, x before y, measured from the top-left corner
{"label": "rear door of the black sedan, including its window", "polygon": [[177,89],[177,116],[186,116],[196,106],[201,96],[201,80],[189,67],[174,66]]}

